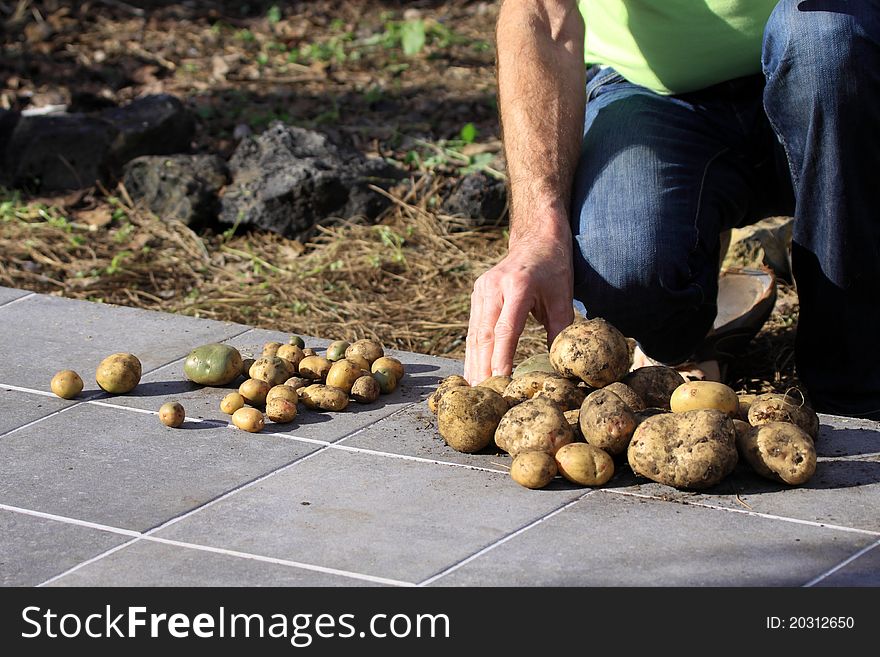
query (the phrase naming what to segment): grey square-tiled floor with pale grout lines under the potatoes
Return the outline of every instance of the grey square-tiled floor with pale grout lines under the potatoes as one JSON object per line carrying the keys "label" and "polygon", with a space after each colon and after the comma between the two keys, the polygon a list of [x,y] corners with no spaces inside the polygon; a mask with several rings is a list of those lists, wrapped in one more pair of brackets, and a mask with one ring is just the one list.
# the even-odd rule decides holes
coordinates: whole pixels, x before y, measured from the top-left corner
{"label": "grey square-tiled floor with pale grout lines under the potatoes", "polygon": [[[183,358],[287,333],[8,288],[0,326],[4,586],[880,586],[877,423],[821,416],[801,488],[739,467],[684,492],[621,464],[600,489],[532,491],[506,455],[437,435],[424,400],[458,361],[394,352],[407,377],[376,404],[250,434]],[[144,375],[110,396],[93,373],[117,351]],[[86,383],[72,401],[49,392],[66,368]],[[155,413],[172,399],[178,429]]]}

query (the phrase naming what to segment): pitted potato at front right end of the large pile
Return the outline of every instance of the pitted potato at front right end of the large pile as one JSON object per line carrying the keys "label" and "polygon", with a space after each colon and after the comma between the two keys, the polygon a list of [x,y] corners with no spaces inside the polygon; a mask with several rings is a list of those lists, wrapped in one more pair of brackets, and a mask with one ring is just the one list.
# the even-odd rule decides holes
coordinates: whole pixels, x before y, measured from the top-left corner
{"label": "pitted potato at front right end of the large pile", "polygon": [[768,422],[737,433],[742,459],[762,477],[799,486],[816,472],[816,448],[806,431],[790,422]]}

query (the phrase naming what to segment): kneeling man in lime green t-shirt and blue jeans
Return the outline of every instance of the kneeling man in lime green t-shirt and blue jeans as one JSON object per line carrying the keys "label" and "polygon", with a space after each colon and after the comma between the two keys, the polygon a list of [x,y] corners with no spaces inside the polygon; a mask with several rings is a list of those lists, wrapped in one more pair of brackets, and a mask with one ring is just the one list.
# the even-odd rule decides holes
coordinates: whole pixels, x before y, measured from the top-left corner
{"label": "kneeling man in lime green t-shirt and blue jeans", "polygon": [[687,361],[720,234],[793,215],[798,375],[816,410],[880,419],[878,41],[878,0],[504,2],[510,239],[465,378],[510,373],[528,314],[549,344],[573,301],[644,362]]}

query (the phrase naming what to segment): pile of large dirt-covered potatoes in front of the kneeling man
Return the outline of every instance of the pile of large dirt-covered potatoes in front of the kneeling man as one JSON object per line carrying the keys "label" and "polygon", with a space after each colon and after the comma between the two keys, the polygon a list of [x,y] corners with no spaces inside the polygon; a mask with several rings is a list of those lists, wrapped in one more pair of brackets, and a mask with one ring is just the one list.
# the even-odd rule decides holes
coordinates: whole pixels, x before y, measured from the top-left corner
{"label": "pile of large dirt-covered potatoes in front of the kneeling man", "polygon": [[715,486],[740,462],[792,486],[813,476],[819,419],[802,398],[737,394],[662,365],[633,369],[633,346],[604,319],[579,319],[511,376],[476,386],[447,377],[427,405],[450,447],[494,443],[527,488],[557,475],[601,486],[622,462],[683,490]]}

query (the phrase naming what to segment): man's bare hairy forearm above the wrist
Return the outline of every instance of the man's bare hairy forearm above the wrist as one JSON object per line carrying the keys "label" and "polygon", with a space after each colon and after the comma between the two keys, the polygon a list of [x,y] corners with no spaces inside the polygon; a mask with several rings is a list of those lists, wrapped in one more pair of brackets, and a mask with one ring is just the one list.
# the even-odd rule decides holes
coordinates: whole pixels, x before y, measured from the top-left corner
{"label": "man's bare hairy forearm above the wrist", "polygon": [[513,245],[567,223],[586,103],[577,3],[506,0],[496,44]]}

